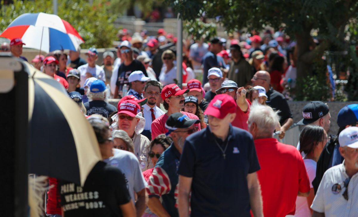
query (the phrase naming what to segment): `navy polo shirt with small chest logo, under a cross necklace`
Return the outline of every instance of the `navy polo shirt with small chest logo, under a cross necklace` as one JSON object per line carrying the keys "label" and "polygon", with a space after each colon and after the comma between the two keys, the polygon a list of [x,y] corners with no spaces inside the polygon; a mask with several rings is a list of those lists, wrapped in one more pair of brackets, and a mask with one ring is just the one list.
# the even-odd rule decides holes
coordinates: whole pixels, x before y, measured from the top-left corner
{"label": "navy polo shirt with small chest logo, under a cross necklace", "polygon": [[[222,149],[226,149],[225,159]],[[247,175],[260,169],[252,135],[230,124],[226,141],[210,126],[185,140],[178,174],[192,177],[191,216],[250,216]]]}

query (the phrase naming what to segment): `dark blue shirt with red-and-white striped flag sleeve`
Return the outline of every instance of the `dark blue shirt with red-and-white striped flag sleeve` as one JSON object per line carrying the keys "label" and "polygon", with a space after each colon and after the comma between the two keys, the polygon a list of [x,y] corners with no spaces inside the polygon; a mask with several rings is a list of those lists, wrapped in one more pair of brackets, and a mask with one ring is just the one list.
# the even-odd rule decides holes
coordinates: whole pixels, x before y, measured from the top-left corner
{"label": "dark blue shirt with red-and-white striped flag sleeve", "polygon": [[169,148],[160,155],[146,187],[148,197],[161,197],[163,207],[171,217],[179,216],[178,209],[175,208],[179,179],[176,171],[179,159],[180,153],[171,143]]}

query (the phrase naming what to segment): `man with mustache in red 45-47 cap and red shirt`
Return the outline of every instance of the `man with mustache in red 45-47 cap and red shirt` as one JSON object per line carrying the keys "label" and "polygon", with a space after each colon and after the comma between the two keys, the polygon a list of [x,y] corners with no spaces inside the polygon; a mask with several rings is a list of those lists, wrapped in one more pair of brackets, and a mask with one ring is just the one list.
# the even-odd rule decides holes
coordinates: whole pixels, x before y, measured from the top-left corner
{"label": "man with mustache in red 45-47 cap and red shirt", "polygon": [[[184,93],[188,93],[189,89],[182,90],[176,84],[170,84],[163,88],[161,91],[161,98],[164,100],[163,106],[168,112],[164,115],[159,116],[152,122],[152,139],[156,138],[159,134],[165,134],[168,132],[168,129],[165,127],[165,121],[168,117],[175,112],[182,112],[182,114],[187,115],[190,119],[199,120],[198,116],[194,114],[190,114],[185,111],[181,111],[184,108]],[[200,123],[195,124],[198,127],[198,131],[200,131]]]}

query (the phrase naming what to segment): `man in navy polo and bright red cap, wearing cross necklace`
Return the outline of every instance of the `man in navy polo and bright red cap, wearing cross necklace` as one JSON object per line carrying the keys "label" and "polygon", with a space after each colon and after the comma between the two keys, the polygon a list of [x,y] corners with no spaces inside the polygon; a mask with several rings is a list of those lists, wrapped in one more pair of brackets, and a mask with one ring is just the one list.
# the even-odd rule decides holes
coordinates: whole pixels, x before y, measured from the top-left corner
{"label": "man in navy polo and bright red cap, wearing cross necklace", "polygon": [[178,168],[180,216],[263,216],[260,169],[252,135],[233,127],[236,102],[216,95],[204,114],[209,126],[186,140]]}

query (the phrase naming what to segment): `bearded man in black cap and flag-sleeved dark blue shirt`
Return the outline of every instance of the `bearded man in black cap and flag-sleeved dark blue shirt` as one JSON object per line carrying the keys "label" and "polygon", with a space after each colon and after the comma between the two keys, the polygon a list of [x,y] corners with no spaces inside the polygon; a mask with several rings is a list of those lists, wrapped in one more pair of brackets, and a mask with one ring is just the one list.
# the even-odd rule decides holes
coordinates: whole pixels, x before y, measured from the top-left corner
{"label": "bearded man in black cap and flag-sleeved dark blue shirt", "polygon": [[176,171],[185,138],[197,130],[195,124],[199,123],[199,120],[190,119],[180,112],[171,114],[165,122],[165,127],[169,130],[167,134],[173,138],[173,143],[160,155],[146,187],[148,207],[157,216],[179,217],[174,196],[178,193]]}

